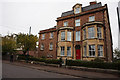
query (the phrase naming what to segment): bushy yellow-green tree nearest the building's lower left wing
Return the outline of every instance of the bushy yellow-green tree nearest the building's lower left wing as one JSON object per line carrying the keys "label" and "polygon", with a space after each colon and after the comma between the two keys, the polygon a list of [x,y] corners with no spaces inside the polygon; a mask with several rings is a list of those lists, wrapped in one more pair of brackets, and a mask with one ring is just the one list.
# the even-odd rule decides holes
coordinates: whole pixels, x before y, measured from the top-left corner
{"label": "bushy yellow-green tree nearest the building's lower left wing", "polygon": [[25,54],[29,50],[36,49],[36,42],[38,41],[37,36],[35,35],[28,35],[19,33],[17,35],[17,47],[22,48],[23,53]]}

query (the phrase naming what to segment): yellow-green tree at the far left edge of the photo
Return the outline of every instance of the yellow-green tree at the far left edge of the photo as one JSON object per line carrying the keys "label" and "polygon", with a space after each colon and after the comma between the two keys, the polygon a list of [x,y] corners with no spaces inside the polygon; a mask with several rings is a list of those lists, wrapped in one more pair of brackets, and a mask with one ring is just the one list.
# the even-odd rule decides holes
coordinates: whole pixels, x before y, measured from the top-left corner
{"label": "yellow-green tree at the far left edge of the photo", "polygon": [[14,53],[16,49],[16,41],[15,38],[12,36],[5,36],[2,37],[2,54],[5,55],[7,53]]}

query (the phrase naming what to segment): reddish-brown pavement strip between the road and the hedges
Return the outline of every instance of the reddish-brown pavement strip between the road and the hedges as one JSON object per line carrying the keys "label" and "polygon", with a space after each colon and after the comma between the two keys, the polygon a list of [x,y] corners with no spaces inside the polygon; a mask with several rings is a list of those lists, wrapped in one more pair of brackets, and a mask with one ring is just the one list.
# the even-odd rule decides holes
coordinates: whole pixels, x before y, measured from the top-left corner
{"label": "reddish-brown pavement strip between the road and the hedges", "polygon": [[9,61],[3,61],[6,64],[12,64],[16,66],[23,66],[27,68],[37,69],[41,71],[63,74],[63,75],[70,75],[78,78],[85,78],[85,79],[95,79],[95,78],[120,78],[118,75],[108,74],[108,73],[100,73],[100,72],[90,72],[90,71],[80,71],[68,68],[60,68],[60,67],[52,67],[52,66],[44,66],[39,64],[31,64],[25,62],[13,62],[10,63]]}

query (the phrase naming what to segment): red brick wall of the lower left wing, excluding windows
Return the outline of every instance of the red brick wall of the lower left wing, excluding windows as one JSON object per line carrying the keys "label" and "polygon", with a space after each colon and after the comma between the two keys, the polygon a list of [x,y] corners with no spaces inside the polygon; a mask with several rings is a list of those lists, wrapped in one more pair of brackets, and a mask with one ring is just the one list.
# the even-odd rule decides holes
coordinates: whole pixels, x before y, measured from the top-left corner
{"label": "red brick wall of the lower left wing, excluding windows", "polygon": [[[57,41],[57,32],[53,32],[53,39],[50,39],[50,33],[51,32],[48,32],[48,33],[44,33],[45,34],[45,39],[44,40],[41,40],[41,34],[40,35],[40,38],[39,38],[39,57],[47,57],[47,55],[52,55],[53,59],[56,59],[56,41]],[[53,50],[49,50],[49,44],[50,43],[53,43]],[[41,44],[44,44],[44,50],[40,50],[40,46]],[[47,58],[50,58],[50,57],[47,57]]]}

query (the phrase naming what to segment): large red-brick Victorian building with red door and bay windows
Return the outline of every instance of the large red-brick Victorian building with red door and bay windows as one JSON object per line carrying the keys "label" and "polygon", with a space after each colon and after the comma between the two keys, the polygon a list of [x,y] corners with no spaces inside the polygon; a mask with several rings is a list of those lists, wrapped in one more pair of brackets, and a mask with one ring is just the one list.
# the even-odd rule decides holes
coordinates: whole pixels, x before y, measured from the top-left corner
{"label": "large red-brick Victorian building with red door and bay windows", "polygon": [[39,32],[39,57],[112,61],[112,35],[107,4],[90,2],[57,18],[57,26]]}

